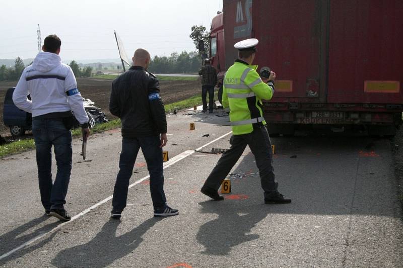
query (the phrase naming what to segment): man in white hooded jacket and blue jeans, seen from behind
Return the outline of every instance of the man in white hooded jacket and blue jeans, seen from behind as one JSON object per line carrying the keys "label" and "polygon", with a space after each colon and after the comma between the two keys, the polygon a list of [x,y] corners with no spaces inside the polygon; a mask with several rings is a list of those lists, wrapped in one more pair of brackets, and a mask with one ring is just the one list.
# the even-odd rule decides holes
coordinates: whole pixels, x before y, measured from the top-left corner
{"label": "man in white hooded jacket and blue jeans, seen from behind", "polygon": [[[85,138],[90,135],[90,130],[76,77],[69,65],[61,63],[58,55],[60,46],[60,38],[56,35],[45,38],[44,52],[36,55],[33,64],[24,69],[14,90],[13,101],[18,108],[32,113],[39,191],[45,213],[69,221],[71,217],[64,204],[72,170],[70,129],[73,113]],[[54,183],[51,173],[52,145],[57,164]]]}

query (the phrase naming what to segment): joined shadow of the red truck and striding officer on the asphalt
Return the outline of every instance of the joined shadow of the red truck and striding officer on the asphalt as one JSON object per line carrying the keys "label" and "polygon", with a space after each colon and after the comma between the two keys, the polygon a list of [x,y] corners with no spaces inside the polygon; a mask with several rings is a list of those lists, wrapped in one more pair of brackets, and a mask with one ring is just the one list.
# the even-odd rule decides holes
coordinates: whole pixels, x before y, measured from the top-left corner
{"label": "joined shadow of the red truck and striding officer on the asphalt", "polygon": [[272,139],[279,148],[274,159],[279,191],[292,198],[291,204],[263,204],[252,153],[244,155],[228,176],[231,194],[245,195],[245,200],[199,203],[202,213],[218,215],[198,230],[197,241],[206,248],[203,253],[227,255],[232,247],[258,239],[248,232],[270,214],[401,217],[389,140],[306,137],[303,141]]}

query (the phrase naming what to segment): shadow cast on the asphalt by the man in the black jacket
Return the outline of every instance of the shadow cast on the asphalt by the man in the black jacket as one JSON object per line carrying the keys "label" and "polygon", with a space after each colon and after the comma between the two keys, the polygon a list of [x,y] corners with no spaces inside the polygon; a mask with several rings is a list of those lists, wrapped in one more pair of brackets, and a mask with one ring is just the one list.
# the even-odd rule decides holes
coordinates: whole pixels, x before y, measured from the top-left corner
{"label": "shadow cast on the asphalt by the man in the black jacket", "polygon": [[143,241],[142,236],[162,218],[150,218],[137,228],[116,237],[121,223],[110,219],[101,231],[86,244],[60,251],[52,260],[56,267],[106,267],[135,250]]}

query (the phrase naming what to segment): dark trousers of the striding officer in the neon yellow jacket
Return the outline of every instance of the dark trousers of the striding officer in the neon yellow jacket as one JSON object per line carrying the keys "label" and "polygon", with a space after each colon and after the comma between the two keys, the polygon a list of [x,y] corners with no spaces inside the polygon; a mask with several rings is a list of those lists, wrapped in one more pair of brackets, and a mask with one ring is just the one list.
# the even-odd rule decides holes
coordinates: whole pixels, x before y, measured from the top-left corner
{"label": "dark trousers of the striding officer in the neon yellow jacket", "polygon": [[272,143],[270,142],[266,128],[262,126],[249,134],[232,135],[230,143],[230,149],[225,151],[218,160],[203,187],[217,191],[225,177],[231,171],[231,168],[238,161],[239,157],[241,157],[246,145],[249,145],[250,150],[255,156],[257,168],[259,169],[260,184],[264,191],[264,196],[268,196],[274,191],[277,191],[278,183],[275,181],[272,165]]}

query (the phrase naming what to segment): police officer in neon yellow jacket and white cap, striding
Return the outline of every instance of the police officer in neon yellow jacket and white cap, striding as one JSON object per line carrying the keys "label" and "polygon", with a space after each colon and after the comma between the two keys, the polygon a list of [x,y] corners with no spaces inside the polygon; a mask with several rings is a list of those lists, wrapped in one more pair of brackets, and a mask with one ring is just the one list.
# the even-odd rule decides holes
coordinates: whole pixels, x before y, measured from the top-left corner
{"label": "police officer in neon yellow jacket and white cap, striding", "polygon": [[290,203],[291,199],[285,198],[277,190],[278,183],[272,165],[272,144],[265,127],[261,102],[272,99],[276,73],[271,71],[266,84],[256,72],[257,66],[251,65],[258,42],[251,38],[234,45],[238,49],[238,59],[225,74],[222,101],[224,108],[230,108],[233,133],[231,148],[223,153],[200,192],[214,200],[224,200],[217,191],[246,145],[249,145],[259,169],[264,203]]}

